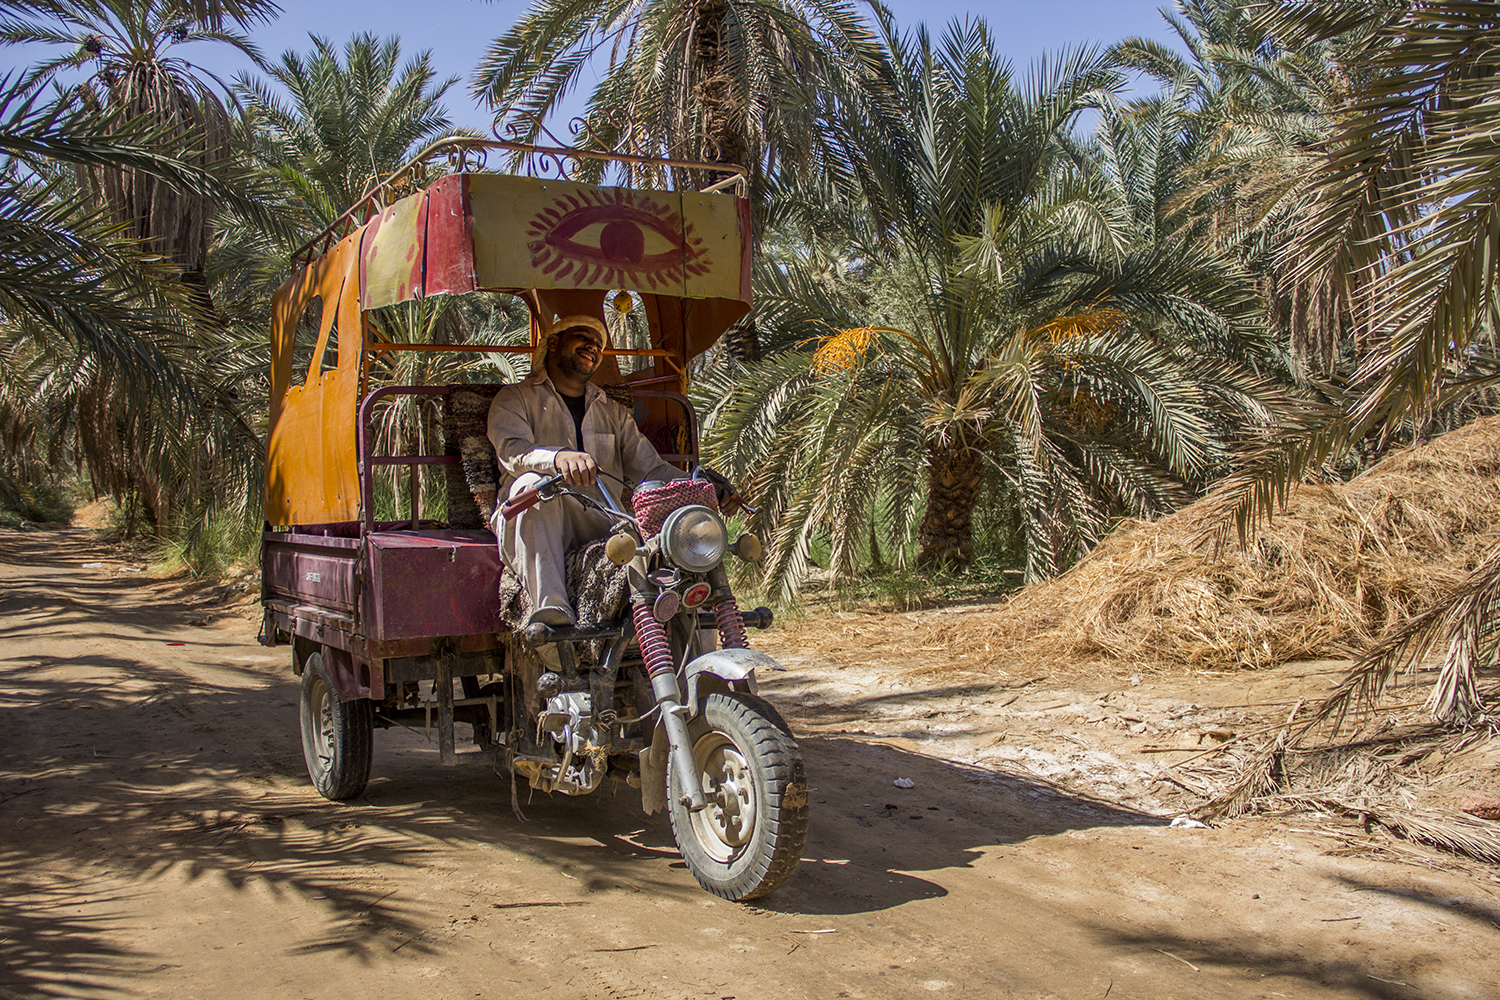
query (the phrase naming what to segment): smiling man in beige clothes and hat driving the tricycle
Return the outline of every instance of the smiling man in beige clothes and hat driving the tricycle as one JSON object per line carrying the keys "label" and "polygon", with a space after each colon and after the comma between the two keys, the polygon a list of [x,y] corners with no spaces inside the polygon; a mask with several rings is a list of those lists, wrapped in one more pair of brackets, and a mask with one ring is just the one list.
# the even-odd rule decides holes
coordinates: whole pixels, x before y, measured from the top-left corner
{"label": "smiling man in beige clothes and hat driving the tricycle", "polygon": [[[682,475],[662,460],[632,412],[590,381],[608,345],[603,321],[564,316],[532,357],[531,375],[495,394],[489,441],[508,477],[502,484],[507,496],[561,475],[570,487],[604,489],[620,502],[621,478],[640,483]],[[606,475],[600,478],[600,472]],[[603,538],[609,519],[564,496],[524,510],[512,520],[501,517],[496,507],[490,526],[500,538],[501,559],[520,576],[531,598],[526,624],[573,624],[567,550]]]}

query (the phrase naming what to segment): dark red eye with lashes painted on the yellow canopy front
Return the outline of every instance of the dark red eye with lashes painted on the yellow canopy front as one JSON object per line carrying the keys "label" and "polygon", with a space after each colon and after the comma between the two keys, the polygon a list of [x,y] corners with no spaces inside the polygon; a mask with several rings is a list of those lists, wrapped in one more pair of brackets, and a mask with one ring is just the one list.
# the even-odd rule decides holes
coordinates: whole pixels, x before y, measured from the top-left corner
{"label": "dark red eye with lashes painted on the yellow canopy front", "polygon": [[710,270],[692,222],[620,187],[562,195],[532,216],[526,235],[531,265],[578,286],[663,288]]}

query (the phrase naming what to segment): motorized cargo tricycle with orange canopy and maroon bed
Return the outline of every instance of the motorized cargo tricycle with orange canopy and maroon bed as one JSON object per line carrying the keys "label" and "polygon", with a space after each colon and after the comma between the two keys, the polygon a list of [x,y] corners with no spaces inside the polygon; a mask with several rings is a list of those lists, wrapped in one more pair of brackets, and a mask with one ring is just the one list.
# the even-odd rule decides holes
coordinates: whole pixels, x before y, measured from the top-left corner
{"label": "motorized cargo tricycle with orange canopy and maroon bed", "polygon": [[[705,889],[764,895],[801,858],[807,787],[796,741],[758,694],[758,676],[778,667],[750,649],[747,625],[770,625],[770,612],[741,610],[724,567],[758,558],[759,543],[730,543],[738,496],[698,468],[686,397],[688,364],[750,306],[747,202],[722,193],[742,189],[742,174],[670,192],[476,169],[494,147],[554,165],[588,156],[468,138],[429,147],[309,244],[274,298],[261,642],[291,646],[308,774],[324,796],[350,799],[369,781],[376,729],[435,729],[453,765],[466,724],[508,771],[518,811],[518,780],[562,795],[624,783],[646,813],[668,811]],[[429,180],[444,157],[447,172]],[[530,339],[416,324],[438,331],[417,339],[390,319],[435,295],[486,294],[524,303]],[[634,334],[615,337],[596,382],[692,472],[624,484],[624,505],[560,480],[507,498],[484,436],[498,385],[472,366],[453,382],[392,381],[410,370],[393,363],[400,352],[534,354],[554,316],[610,312]],[[441,405],[441,448],[396,433],[387,439],[405,453],[376,453],[374,426],[402,399]],[[399,502],[392,466],[411,484],[399,520],[376,517]],[[420,510],[426,466],[447,474],[441,517]],[[502,609],[512,574],[492,529],[537,502],[594,504],[614,525],[570,555],[576,627],[522,630]]]}

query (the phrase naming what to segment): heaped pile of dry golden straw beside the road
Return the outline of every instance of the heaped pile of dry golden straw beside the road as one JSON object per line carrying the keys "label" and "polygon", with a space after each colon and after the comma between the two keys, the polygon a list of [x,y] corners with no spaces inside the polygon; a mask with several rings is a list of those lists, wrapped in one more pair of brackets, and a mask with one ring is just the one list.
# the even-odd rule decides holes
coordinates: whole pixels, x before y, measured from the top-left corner
{"label": "heaped pile of dry golden straw beside the road", "polygon": [[957,616],[951,648],[1029,664],[1268,667],[1344,657],[1464,579],[1500,538],[1500,417],[1302,486],[1245,549],[1204,504],[1128,522],[1072,570]]}

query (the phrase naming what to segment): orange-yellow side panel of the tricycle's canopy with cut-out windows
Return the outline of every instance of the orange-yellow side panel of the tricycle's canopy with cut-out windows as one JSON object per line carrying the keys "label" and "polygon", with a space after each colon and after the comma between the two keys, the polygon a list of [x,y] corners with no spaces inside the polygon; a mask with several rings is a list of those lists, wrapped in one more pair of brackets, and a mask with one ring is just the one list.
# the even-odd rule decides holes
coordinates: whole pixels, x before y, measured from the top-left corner
{"label": "orange-yellow side panel of the tricycle's canopy with cut-out windows", "polygon": [[[358,517],[356,406],[362,325],[357,231],[276,291],[272,303],[272,430],[266,445],[266,520],[308,525]],[[288,385],[291,343],[308,303],[322,298],[318,349],[309,381]],[[322,369],[328,330],[338,324],[338,367]],[[285,358],[285,360],[284,360]]]}

